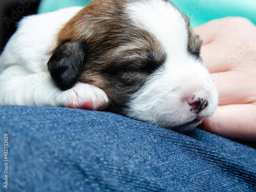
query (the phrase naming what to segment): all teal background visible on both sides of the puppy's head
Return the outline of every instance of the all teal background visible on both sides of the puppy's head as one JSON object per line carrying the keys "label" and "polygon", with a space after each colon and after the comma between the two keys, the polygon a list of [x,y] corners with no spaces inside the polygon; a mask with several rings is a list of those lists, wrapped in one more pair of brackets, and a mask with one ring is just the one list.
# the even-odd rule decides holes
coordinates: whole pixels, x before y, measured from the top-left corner
{"label": "all teal background visible on both sides of the puppy's head", "polygon": [[[71,6],[84,6],[90,2],[92,0],[41,0],[38,13]],[[246,17],[256,25],[256,0],[173,0],[172,2],[189,16],[193,27],[226,16]]]}

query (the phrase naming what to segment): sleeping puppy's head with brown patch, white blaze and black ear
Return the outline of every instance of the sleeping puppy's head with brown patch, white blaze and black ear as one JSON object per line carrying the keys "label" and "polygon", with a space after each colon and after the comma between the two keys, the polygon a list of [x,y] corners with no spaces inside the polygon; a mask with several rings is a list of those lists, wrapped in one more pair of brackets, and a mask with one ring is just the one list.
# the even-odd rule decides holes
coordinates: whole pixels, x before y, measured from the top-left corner
{"label": "sleeping puppy's head with brown patch, white blaze and black ear", "polygon": [[95,0],[58,34],[48,62],[62,90],[102,89],[109,111],[177,130],[214,113],[218,95],[189,19],[164,0]]}

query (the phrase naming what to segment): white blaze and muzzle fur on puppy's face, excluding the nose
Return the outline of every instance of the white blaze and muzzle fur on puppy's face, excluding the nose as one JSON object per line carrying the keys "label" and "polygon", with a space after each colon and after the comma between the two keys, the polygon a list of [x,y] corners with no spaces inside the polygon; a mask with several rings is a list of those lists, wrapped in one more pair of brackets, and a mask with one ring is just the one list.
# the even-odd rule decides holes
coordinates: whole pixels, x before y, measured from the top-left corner
{"label": "white blaze and muzzle fur on puppy's face, excluding the nose", "polygon": [[[156,35],[167,53],[167,59],[164,66],[133,95],[127,115],[163,127],[181,126],[184,122],[211,116],[218,104],[217,89],[215,86],[206,89],[211,82],[209,72],[187,53],[184,18],[170,4],[156,0],[150,2],[133,3],[127,9],[138,15],[136,19],[131,17],[138,27],[147,28]],[[186,97],[202,91],[209,95],[209,105],[199,114],[190,112]],[[200,122],[183,126],[180,131],[190,130]]]}

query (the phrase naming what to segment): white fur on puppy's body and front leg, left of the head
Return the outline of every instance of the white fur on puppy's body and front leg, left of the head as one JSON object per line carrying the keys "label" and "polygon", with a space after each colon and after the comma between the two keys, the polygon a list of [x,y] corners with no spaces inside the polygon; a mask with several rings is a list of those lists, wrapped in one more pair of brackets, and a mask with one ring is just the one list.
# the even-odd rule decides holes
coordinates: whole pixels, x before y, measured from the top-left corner
{"label": "white fur on puppy's body and front leg, left of the head", "polygon": [[47,70],[57,33],[81,9],[66,8],[21,20],[0,56],[1,104],[69,106],[93,101],[96,110],[108,102],[102,90],[85,83],[77,85],[80,89],[59,90]]}

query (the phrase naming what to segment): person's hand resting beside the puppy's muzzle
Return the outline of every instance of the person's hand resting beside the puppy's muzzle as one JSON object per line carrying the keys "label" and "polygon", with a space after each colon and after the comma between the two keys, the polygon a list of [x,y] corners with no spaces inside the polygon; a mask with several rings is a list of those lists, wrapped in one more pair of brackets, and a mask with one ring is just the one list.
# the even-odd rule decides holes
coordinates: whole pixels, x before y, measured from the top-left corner
{"label": "person's hand resting beside the puppy's muzzle", "polygon": [[242,17],[226,17],[194,32],[203,40],[201,57],[219,91],[219,106],[201,128],[256,142],[256,26]]}

